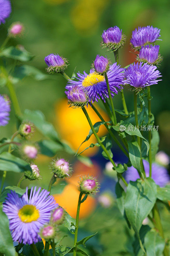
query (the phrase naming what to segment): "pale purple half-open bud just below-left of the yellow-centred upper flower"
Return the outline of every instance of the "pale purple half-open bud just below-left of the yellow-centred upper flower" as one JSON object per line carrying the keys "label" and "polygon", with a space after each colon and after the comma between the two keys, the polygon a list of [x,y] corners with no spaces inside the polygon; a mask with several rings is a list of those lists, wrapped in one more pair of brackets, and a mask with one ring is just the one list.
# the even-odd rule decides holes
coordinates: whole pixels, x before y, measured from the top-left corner
{"label": "pale purple half-open bud just below-left of the yellow-centred upper flower", "polygon": [[70,107],[82,108],[89,102],[87,93],[78,85],[73,85],[68,89],[68,91],[65,91],[65,93],[67,95],[68,104],[70,104]]}

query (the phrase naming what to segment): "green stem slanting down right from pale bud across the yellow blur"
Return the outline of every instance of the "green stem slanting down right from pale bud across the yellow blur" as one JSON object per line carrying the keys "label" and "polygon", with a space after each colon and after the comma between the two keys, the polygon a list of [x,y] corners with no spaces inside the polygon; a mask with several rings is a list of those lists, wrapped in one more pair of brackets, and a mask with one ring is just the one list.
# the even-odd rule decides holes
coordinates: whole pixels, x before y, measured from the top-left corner
{"label": "green stem slanting down right from pale bud across the yellow blur", "polygon": [[[109,155],[107,149],[104,147],[103,143],[101,142],[100,138],[98,137],[97,133],[95,132],[95,129],[94,129],[94,127],[93,127],[93,124],[92,124],[92,122],[91,122],[91,120],[90,120],[90,117],[89,117],[89,115],[88,115],[86,109],[85,109],[84,107],[82,107],[82,110],[83,110],[83,112],[84,112],[84,114],[85,114],[85,116],[86,116],[86,118],[87,118],[87,120],[88,120],[88,122],[89,122],[89,125],[90,125],[90,128],[91,128],[93,134],[95,135],[95,137],[96,137],[96,139],[97,139],[97,142],[99,143],[100,147],[103,149],[103,151],[105,152],[105,154],[107,155],[109,161],[113,164],[114,168],[116,168],[115,162],[114,162],[113,159],[110,157],[110,155]],[[120,178],[123,180],[123,177],[122,177],[121,174],[120,174]],[[126,182],[126,180],[123,180],[123,182],[125,183],[126,186],[128,185],[128,183]]]}

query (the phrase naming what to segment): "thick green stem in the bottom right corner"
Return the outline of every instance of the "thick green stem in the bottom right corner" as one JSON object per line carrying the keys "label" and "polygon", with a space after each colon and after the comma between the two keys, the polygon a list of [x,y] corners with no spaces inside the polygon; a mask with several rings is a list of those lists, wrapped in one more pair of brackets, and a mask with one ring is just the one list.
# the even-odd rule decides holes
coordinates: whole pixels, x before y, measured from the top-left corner
{"label": "thick green stem in the bottom right corner", "polygon": [[[154,205],[154,207],[152,209],[152,212],[153,212],[153,221],[154,221],[154,224],[155,224],[155,228],[158,230],[159,235],[163,239],[165,239],[157,204]],[[169,256],[169,248],[168,248],[167,245],[165,245],[163,253],[164,253],[164,256]]]}

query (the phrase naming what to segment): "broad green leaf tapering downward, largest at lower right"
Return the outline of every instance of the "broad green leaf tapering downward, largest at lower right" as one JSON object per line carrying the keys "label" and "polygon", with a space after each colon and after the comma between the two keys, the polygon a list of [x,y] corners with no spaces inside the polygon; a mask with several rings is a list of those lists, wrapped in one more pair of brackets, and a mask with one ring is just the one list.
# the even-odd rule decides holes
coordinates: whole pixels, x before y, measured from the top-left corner
{"label": "broad green leaf tapering downward, largest at lower right", "polygon": [[151,178],[130,181],[125,197],[125,212],[136,233],[151,212],[157,196],[157,186]]}

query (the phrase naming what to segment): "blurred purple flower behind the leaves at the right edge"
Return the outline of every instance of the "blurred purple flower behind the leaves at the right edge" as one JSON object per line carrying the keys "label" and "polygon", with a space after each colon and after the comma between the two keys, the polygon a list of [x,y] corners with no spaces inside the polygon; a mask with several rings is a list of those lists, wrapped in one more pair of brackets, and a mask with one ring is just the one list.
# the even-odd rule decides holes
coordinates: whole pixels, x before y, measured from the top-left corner
{"label": "blurred purple flower behind the leaves at the right edge", "polygon": [[[145,169],[146,177],[149,177],[148,161],[143,160],[143,166]],[[137,172],[137,170],[133,166],[128,167],[128,170],[125,172],[126,181],[127,182],[129,182],[130,180],[136,181],[139,178],[140,178],[140,176],[139,176],[139,173]],[[152,164],[152,177],[151,178],[160,187],[165,187],[166,184],[170,181],[170,177],[169,177],[167,170],[164,167],[162,167],[158,164],[155,164],[155,163]]]}

